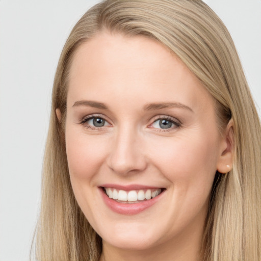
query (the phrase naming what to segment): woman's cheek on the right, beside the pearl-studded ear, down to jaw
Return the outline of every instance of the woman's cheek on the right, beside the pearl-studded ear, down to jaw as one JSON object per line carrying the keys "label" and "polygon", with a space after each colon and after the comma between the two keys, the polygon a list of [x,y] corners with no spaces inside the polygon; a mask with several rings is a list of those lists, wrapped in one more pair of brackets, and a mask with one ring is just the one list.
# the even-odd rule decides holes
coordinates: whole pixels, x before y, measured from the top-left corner
{"label": "woman's cheek on the right, beside the pearl-studded ear, down to jaw", "polygon": [[195,217],[205,218],[216,173],[218,140],[192,134],[171,139],[161,143],[151,157],[170,181],[168,201],[174,207],[165,215],[171,222],[182,224],[179,228],[175,226],[180,229]]}

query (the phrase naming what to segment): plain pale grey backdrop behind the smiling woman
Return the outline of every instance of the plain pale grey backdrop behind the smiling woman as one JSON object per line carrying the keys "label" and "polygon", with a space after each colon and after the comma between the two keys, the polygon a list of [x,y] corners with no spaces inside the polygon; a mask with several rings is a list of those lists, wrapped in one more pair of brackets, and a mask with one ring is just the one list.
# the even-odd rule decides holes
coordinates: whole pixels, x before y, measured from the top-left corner
{"label": "plain pale grey backdrop behind the smiling woman", "polygon": [[[0,0],[0,261],[29,260],[55,69],[73,25],[97,2]],[[205,2],[230,31],[260,108],[261,0]]]}

